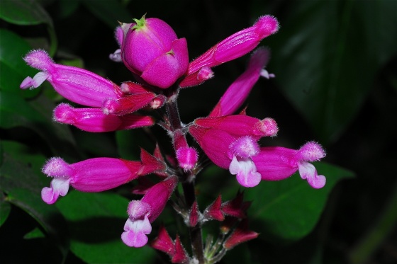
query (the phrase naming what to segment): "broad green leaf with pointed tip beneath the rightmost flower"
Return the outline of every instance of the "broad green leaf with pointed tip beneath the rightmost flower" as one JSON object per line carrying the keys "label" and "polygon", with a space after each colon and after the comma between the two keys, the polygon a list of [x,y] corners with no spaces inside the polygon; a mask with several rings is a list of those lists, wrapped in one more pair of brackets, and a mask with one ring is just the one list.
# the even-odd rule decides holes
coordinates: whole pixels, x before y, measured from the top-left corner
{"label": "broad green leaf with pointed tip beneath the rightmost flower", "polygon": [[250,219],[259,238],[272,241],[296,241],[306,236],[318,222],[335,184],[354,175],[337,166],[315,163],[318,173],[327,178],[322,189],[313,189],[298,175],[281,181],[262,181],[245,191],[245,200],[252,200]]}

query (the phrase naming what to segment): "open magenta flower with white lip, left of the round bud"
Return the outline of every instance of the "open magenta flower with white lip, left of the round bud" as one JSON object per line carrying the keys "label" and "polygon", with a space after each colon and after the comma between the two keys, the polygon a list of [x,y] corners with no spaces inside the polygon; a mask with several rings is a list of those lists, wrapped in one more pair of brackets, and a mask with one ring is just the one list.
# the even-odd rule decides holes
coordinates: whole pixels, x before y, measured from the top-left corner
{"label": "open magenta flower with white lip, left of the round bud", "polygon": [[23,59],[41,71],[33,79],[26,77],[20,88],[37,88],[47,80],[61,96],[93,107],[101,107],[105,99],[120,97],[116,84],[85,69],[55,64],[44,50],[32,50]]}

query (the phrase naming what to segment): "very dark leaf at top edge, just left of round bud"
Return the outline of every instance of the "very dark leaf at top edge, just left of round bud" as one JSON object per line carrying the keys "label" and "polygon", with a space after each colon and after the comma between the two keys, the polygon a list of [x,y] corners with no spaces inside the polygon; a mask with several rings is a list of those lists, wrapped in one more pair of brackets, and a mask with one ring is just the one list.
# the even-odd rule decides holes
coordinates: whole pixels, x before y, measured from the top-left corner
{"label": "very dark leaf at top edge, just left of round bud", "polygon": [[86,8],[110,28],[118,26],[117,21],[132,23],[133,17],[120,1],[89,1],[82,0]]}

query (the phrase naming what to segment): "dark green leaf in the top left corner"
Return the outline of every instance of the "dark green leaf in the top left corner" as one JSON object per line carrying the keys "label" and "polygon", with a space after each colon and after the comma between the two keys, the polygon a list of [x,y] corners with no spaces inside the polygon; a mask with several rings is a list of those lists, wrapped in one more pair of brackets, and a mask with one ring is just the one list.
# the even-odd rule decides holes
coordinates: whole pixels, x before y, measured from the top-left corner
{"label": "dark green leaf in the top left corner", "polygon": [[52,26],[52,19],[35,0],[0,1],[0,18],[17,25],[47,23]]}

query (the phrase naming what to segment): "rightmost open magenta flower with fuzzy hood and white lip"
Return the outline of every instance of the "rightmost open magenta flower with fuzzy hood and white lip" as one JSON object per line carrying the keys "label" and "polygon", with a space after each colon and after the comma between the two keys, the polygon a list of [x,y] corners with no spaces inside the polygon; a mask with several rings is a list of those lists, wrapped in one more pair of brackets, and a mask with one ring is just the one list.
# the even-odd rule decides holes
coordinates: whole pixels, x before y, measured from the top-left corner
{"label": "rightmost open magenta flower with fuzzy hood and white lip", "polygon": [[262,180],[284,180],[296,171],[302,179],[308,180],[313,188],[323,188],[325,176],[318,175],[313,164],[308,161],[319,161],[325,157],[325,151],[315,142],[308,142],[301,149],[284,147],[262,147],[257,156],[252,157],[261,174]]}

